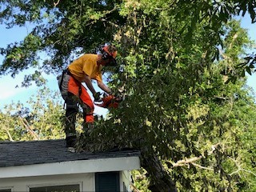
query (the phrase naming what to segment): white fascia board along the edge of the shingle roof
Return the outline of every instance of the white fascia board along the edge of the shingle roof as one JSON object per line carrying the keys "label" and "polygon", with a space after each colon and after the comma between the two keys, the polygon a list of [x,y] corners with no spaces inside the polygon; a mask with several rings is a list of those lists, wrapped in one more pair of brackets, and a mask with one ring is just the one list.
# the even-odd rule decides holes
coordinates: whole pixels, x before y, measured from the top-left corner
{"label": "white fascia board along the edge of the shingle roof", "polygon": [[70,162],[54,162],[27,166],[0,167],[0,178],[34,177],[56,174],[85,174],[94,172],[138,170],[138,157],[97,158]]}

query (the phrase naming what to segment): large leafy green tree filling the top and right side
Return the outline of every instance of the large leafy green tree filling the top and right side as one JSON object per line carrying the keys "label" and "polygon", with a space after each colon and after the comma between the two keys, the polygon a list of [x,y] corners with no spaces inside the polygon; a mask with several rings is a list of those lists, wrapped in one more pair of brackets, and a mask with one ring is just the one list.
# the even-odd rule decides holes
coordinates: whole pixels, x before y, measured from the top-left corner
{"label": "large leafy green tree filling the top and right side", "polygon": [[[1,74],[14,76],[31,66],[54,73],[66,67],[72,54],[92,51],[102,42],[118,46],[122,65],[110,71],[110,83],[126,100],[120,109],[110,111],[106,121],[98,121],[92,135],[94,150],[138,147],[152,191],[175,191],[176,186],[180,190],[254,189],[255,171],[250,165],[255,162],[254,102],[242,90],[245,80],[238,67],[244,62],[242,46],[249,41],[239,25],[230,22],[240,11],[248,11],[255,22],[254,1],[59,1],[55,6],[51,1],[12,1],[1,5],[1,22],[10,27],[37,22],[23,42],[2,49],[6,59]],[[38,51],[50,56],[42,65]],[[32,74],[24,85],[38,78],[39,72]],[[244,130],[250,134],[242,134]],[[250,145],[243,146],[244,142]],[[246,170],[250,181],[241,170]]]}

